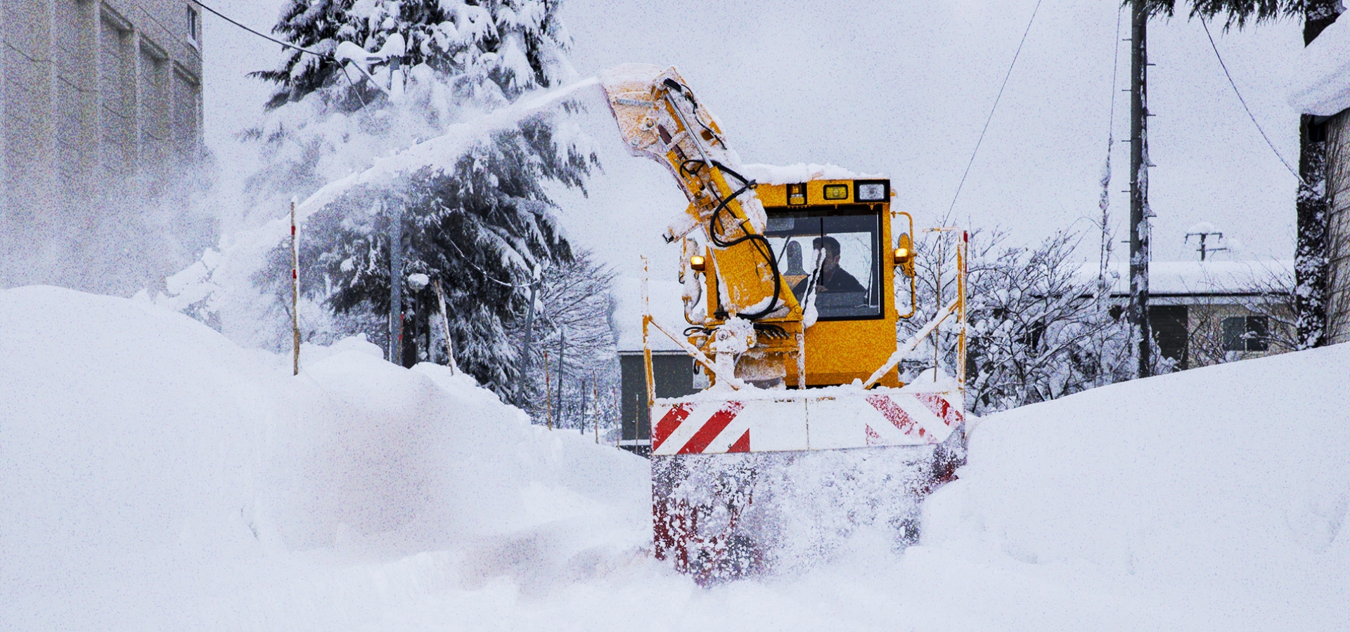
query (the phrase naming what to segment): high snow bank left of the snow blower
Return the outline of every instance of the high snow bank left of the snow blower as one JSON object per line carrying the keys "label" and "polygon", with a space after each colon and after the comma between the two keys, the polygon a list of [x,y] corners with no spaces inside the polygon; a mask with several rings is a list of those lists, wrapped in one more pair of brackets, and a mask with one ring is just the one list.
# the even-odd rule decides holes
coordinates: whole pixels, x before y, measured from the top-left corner
{"label": "high snow bank left of the snow blower", "polygon": [[0,627],[332,629],[437,577],[585,574],[648,538],[645,461],[362,341],[304,357],[0,291]]}

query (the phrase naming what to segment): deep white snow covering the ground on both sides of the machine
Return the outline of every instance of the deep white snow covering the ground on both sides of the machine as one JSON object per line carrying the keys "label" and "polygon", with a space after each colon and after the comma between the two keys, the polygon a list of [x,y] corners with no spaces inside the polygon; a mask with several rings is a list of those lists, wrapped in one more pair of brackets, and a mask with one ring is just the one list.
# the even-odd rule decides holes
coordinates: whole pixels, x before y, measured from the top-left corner
{"label": "deep white snow covering the ground on both sides of the machine", "polygon": [[246,350],[0,291],[7,629],[1338,629],[1350,346],[994,415],[919,546],[778,577],[648,558],[647,462],[347,340]]}

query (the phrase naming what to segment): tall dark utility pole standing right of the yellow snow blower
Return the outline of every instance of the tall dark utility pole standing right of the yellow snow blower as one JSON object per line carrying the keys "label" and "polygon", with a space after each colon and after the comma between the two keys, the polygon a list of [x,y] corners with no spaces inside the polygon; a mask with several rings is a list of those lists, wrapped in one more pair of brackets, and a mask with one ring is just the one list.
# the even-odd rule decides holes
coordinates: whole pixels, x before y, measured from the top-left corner
{"label": "tall dark utility pole standing right of the yellow snow blower", "polygon": [[1138,346],[1138,377],[1153,373],[1149,357],[1149,11],[1130,3],[1130,326]]}

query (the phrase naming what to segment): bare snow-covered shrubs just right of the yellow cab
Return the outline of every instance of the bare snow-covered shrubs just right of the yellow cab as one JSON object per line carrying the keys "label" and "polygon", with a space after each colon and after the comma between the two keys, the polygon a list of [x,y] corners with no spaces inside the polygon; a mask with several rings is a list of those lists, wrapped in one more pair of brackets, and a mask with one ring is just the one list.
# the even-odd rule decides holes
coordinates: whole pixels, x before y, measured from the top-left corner
{"label": "bare snow-covered shrubs just right of the yellow cab", "polygon": [[[956,296],[954,240],[917,244],[919,313],[902,337]],[[944,239],[948,241],[944,243]],[[1079,236],[1061,232],[1035,248],[1003,247],[998,233],[972,233],[967,276],[967,407],[987,414],[1129,379],[1129,329],[1111,311],[1106,276],[1075,257]],[[956,364],[954,322],[940,330],[941,357]],[[933,364],[917,352],[911,371]]]}

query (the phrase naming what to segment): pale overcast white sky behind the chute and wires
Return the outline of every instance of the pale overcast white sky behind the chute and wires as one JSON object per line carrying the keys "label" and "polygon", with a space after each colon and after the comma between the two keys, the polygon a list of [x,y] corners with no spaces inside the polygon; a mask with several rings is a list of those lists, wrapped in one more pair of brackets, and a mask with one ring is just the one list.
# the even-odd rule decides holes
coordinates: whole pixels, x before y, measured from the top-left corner
{"label": "pale overcast white sky behind the chute and wires", "polygon": [[[216,8],[269,30],[279,4],[217,0]],[[675,65],[745,162],[884,172],[896,203],[933,224],[952,202],[1034,4],[855,1],[826,9],[801,0],[568,0],[563,18],[580,75],[624,62]],[[1098,217],[1116,44],[1118,89],[1129,74],[1115,8],[1114,0],[1044,0],[956,205],[959,221],[1033,243],[1069,225],[1088,229],[1084,220]],[[279,47],[211,15],[205,26],[207,141],[230,167],[246,156],[234,135],[259,116],[269,93],[243,74],[273,66]],[[1129,36],[1127,18],[1122,30]],[[1296,160],[1297,115],[1285,85],[1301,49],[1297,24],[1214,32],[1257,120]],[[1154,22],[1149,43],[1157,63],[1149,77],[1156,259],[1196,257],[1183,233],[1199,221],[1241,239],[1249,256],[1289,257],[1295,179],[1247,120],[1200,24]],[[1129,137],[1127,93],[1116,97],[1115,133]],[[605,171],[593,178],[590,198],[560,197],[564,224],[626,267],[634,251],[657,247],[656,234],[683,201],[659,166],[633,164],[605,121],[591,119]],[[1126,239],[1127,164],[1129,144],[1116,143],[1118,240]],[[1085,245],[1085,259],[1094,257]]]}

